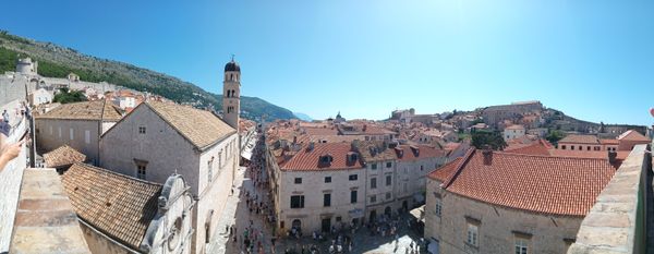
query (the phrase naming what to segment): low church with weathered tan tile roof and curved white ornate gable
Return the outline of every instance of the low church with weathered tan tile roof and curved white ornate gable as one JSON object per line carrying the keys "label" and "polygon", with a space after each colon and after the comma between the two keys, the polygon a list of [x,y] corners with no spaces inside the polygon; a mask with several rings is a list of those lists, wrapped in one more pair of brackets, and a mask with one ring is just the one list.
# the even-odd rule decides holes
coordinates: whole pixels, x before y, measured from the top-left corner
{"label": "low church with weathered tan tile roof and curved white ornate gable", "polygon": [[191,253],[195,204],[181,176],[160,184],[75,164],[62,182],[92,253]]}

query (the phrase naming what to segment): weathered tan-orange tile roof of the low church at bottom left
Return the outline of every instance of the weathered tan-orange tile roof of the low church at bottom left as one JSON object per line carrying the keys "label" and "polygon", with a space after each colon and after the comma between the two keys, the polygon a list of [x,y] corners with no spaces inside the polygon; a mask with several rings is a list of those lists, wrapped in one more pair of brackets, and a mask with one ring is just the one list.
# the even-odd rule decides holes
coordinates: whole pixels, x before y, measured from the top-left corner
{"label": "weathered tan-orange tile roof of the low church at bottom left", "polygon": [[85,164],[75,164],[61,181],[77,216],[112,239],[138,250],[157,214],[162,185]]}

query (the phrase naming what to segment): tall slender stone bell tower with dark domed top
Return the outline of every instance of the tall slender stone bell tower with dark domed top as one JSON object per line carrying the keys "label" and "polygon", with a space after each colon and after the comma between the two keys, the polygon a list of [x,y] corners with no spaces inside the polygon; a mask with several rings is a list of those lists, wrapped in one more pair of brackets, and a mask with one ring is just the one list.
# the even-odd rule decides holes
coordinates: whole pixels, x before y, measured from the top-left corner
{"label": "tall slender stone bell tower with dark domed top", "polygon": [[241,112],[241,66],[232,60],[225,64],[222,82],[222,120],[239,130],[239,113]]}

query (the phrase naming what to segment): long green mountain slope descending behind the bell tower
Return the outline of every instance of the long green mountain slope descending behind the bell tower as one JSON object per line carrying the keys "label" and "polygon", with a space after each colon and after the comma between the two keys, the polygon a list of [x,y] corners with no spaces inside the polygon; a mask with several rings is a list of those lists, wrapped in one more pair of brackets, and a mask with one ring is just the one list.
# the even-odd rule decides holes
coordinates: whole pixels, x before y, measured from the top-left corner
{"label": "long green mountain slope descending behind the bell tower", "polygon": [[[174,76],[124,62],[96,58],[71,48],[35,41],[0,31],[0,73],[14,71],[19,55],[37,60],[38,74],[41,76],[65,77],[73,72],[80,75],[82,81],[106,81],[135,90],[147,90],[197,108],[216,110],[222,108],[221,95],[208,93]],[[242,117],[253,120],[258,120],[264,114],[269,120],[295,118],[290,110],[256,97],[242,96],[241,110]]]}

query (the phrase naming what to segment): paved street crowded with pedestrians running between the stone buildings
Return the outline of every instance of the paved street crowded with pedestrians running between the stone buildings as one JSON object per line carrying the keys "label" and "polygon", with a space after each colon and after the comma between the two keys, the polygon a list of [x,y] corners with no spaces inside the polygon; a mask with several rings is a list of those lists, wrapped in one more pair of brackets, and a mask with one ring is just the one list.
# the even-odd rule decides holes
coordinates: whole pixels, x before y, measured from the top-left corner
{"label": "paved street crowded with pedestrians running between the stone buildings", "polygon": [[[256,209],[250,211],[245,202],[244,193],[249,191],[251,197],[254,198],[256,195],[258,201],[267,203],[266,191],[263,188],[255,188],[254,181],[250,176],[250,171],[244,167],[237,172],[234,194],[228,199],[225,213],[222,213],[207,253],[302,253],[302,246],[305,249],[304,253],[311,253],[310,247],[312,245],[315,246],[315,253],[330,253],[329,245],[331,245],[334,237],[326,235],[326,239],[323,241],[315,241],[311,238],[310,233],[301,239],[280,238],[276,240],[276,246],[272,249],[270,241],[272,235],[271,227],[264,222],[264,217],[261,214],[256,214]],[[413,231],[407,229],[404,217],[399,221],[397,245],[395,237],[371,235],[371,230],[360,228],[354,234],[351,231],[343,232],[342,237],[351,238],[353,245],[351,252],[343,245],[342,253],[412,253],[409,246],[412,242],[413,245],[415,245],[415,242],[420,242],[420,238]],[[226,225],[235,225],[237,242],[234,242],[233,235],[230,237],[230,233],[226,232]],[[247,232],[247,234],[254,247],[251,252],[247,252],[243,240],[245,230],[250,228],[252,231]],[[425,253],[424,245],[421,246],[420,253]]]}

